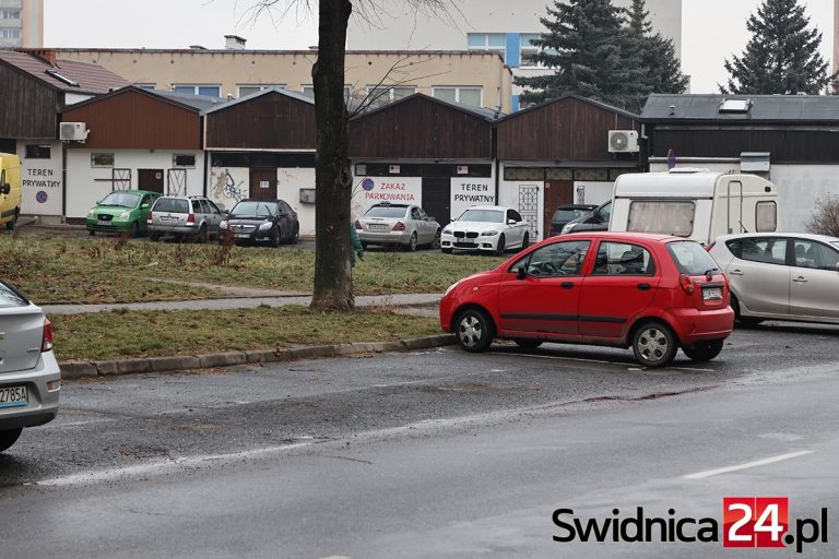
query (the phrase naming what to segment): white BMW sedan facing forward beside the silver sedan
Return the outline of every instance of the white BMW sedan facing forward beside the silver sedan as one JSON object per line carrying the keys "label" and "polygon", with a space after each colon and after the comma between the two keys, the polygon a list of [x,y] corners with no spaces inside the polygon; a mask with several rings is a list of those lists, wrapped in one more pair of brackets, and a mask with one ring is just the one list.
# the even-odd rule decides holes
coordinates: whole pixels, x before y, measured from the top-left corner
{"label": "white BMW sedan facing forward beside the silver sedan", "polygon": [[530,245],[530,226],[521,214],[499,205],[473,206],[442,229],[440,250],[477,250],[504,254]]}

